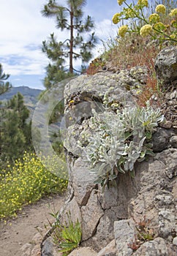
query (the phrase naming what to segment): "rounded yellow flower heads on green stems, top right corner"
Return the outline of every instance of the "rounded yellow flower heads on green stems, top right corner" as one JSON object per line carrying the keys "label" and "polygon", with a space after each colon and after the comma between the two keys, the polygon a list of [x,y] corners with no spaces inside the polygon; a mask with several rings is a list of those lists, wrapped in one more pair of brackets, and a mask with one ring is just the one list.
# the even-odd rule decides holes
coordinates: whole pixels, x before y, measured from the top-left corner
{"label": "rounded yellow flower heads on green stems, top right corner", "polygon": [[[130,26],[119,27],[118,34],[120,37],[124,37],[127,32],[134,32],[142,37],[150,35],[154,39],[168,40],[172,43],[177,42],[177,9],[170,10],[167,13],[164,4],[157,4],[155,12],[146,17],[146,13],[149,11],[147,11],[148,0],[138,0],[137,4],[128,4],[125,0],[118,0],[119,5],[123,3],[126,7],[123,7],[122,12],[113,15],[113,23],[117,24],[121,20],[129,20]],[[153,8],[152,11],[154,11]],[[133,23],[133,20],[135,22],[138,20],[138,23]],[[163,23],[165,20],[169,20],[170,23]],[[136,26],[133,27],[131,24],[136,24]]]}

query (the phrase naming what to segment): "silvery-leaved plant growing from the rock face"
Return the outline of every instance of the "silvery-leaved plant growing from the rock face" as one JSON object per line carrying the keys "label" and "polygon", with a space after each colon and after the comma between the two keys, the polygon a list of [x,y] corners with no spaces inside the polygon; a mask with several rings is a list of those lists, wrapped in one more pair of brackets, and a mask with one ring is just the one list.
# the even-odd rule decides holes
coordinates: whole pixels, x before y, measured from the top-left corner
{"label": "silvery-leaved plant growing from the rock face", "polygon": [[86,147],[82,147],[96,184],[110,184],[118,173],[135,175],[134,165],[153,155],[151,135],[164,116],[160,109],[146,107],[123,108],[116,113],[105,110],[94,113],[89,121],[93,135]]}

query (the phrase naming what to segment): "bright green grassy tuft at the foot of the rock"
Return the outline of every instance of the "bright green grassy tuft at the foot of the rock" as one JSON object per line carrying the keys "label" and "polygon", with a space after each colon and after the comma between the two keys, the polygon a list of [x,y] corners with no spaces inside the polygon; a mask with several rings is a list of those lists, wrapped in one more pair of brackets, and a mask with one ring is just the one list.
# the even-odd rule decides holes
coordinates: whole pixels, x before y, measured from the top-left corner
{"label": "bright green grassy tuft at the foot of the rock", "polygon": [[82,231],[80,222],[74,223],[71,220],[70,214],[67,214],[68,221],[65,225],[61,225],[56,217],[56,229],[53,233],[53,241],[59,246],[59,252],[63,256],[69,255],[73,249],[77,248],[81,241]]}

